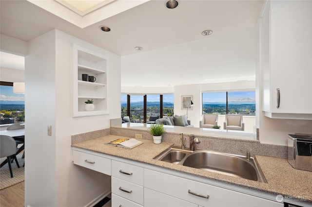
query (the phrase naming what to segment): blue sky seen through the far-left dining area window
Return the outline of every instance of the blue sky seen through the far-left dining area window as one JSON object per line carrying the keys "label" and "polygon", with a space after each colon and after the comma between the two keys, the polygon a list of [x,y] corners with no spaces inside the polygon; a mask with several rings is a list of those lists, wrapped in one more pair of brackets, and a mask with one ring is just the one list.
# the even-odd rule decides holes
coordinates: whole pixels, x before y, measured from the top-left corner
{"label": "blue sky seen through the far-left dining area window", "polygon": [[24,94],[13,93],[13,86],[0,86],[1,104],[25,104]]}

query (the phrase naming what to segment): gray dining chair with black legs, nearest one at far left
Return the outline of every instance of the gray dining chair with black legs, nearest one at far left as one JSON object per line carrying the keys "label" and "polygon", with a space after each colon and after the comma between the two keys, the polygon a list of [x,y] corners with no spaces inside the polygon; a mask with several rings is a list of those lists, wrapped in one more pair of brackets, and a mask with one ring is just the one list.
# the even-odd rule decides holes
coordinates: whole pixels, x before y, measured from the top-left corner
{"label": "gray dining chair with black legs, nearest one at far left", "polygon": [[18,147],[16,147],[16,141],[14,138],[6,136],[6,135],[0,135],[0,158],[6,157],[11,177],[13,177],[12,167],[11,167],[11,157],[15,159],[15,162],[20,168],[18,159],[16,158],[16,152],[19,150]]}

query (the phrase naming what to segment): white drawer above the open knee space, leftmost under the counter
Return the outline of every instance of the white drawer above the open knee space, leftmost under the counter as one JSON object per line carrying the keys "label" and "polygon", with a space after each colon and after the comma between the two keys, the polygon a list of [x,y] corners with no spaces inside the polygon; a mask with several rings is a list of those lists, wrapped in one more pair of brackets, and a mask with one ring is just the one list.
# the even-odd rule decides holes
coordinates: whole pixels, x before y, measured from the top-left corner
{"label": "white drawer above the open knee space, leftmost under the counter", "polygon": [[76,165],[111,175],[110,159],[73,150],[73,161]]}

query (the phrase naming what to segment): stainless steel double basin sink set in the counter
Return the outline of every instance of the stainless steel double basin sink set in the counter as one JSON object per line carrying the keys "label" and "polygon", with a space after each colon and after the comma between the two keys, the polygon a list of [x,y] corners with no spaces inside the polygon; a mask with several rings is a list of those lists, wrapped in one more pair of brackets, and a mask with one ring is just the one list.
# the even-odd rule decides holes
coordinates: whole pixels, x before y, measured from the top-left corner
{"label": "stainless steel double basin sink set in the counter", "polygon": [[208,150],[182,150],[172,147],[157,155],[154,159],[175,163],[191,168],[226,174],[267,183],[261,168],[255,159],[242,155],[232,155]]}

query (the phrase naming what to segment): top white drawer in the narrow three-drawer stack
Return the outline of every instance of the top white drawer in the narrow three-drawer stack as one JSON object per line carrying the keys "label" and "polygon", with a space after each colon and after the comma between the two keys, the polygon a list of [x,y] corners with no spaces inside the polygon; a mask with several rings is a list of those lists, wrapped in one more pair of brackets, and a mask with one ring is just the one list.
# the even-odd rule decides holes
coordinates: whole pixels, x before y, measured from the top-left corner
{"label": "top white drawer in the narrow three-drawer stack", "polygon": [[143,168],[112,160],[112,176],[143,186]]}

